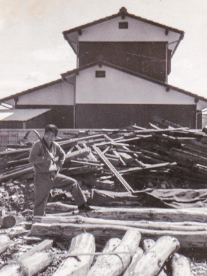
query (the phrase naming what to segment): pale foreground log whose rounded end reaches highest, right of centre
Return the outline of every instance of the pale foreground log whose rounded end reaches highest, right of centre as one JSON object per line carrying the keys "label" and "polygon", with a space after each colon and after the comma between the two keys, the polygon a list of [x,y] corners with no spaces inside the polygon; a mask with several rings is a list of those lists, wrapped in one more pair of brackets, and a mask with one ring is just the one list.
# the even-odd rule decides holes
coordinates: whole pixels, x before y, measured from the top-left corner
{"label": "pale foreground log whose rounded end reaches highest, right of centre", "polygon": [[99,266],[91,268],[87,276],[118,276],[124,273],[124,270],[130,264],[131,256],[135,255],[141,235],[136,229],[126,232],[120,244],[112,251],[115,255],[106,255]]}

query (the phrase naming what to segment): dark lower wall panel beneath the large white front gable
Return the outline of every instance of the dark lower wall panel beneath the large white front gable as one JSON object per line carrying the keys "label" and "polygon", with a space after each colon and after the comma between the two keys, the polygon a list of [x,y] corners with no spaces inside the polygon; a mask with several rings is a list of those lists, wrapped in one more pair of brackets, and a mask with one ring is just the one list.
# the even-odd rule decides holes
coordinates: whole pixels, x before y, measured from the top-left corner
{"label": "dark lower wall panel beneath the large white front gable", "polygon": [[124,128],[137,124],[149,128],[160,117],[181,126],[195,128],[195,106],[78,104],[76,128]]}

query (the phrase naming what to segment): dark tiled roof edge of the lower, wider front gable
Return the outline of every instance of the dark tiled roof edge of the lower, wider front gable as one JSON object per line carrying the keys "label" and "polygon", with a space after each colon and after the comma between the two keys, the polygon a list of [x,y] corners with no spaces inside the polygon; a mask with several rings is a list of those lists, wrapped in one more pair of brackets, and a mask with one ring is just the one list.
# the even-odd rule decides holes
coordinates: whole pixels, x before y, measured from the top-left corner
{"label": "dark tiled roof edge of the lower, wider front gable", "polygon": [[122,68],[122,67],[120,67],[120,66],[116,66],[115,64],[108,63],[108,62],[102,61],[102,60],[101,60],[101,61],[94,61],[94,62],[92,62],[92,63],[86,64],[86,66],[82,66],[82,67],[77,68],[77,69],[75,69],[75,70],[71,70],[71,71],[65,72],[65,73],[61,74],[61,77],[62,77],[63,80],[66,80],[67,77],[70,77],[70,76],[75,75],[75,74],[78,75],[79,72],[81,72],[82,70],[86,70],[86,69],[88,69],[88,68],[90,68],[90,67],[92,67],[92,66],[97,66],[97,65],[99,65],[100,67],[101,67],[101,65],[108,66],[108,67],[110,67],[110,68],[114,68],[114,69],[116,69],[116,70],[120,70],[120,71],[122,71],[122,72],[125,72],[125,73],[127,73],[127,74],[133,75],[133,76],[135,76],[135,77],[139,77],[139,78],[141,78],[141,79],[146,79],[147,81],[151,81],[151,82],[153,82],[153,83],[157,83],[157,84],[159,84],[159,85],[161,85],[161,86],[166,87],[166,90],[168,90],[168,91],[169,91],[170,89],[179,91],[179,92],[181,92],[181,93],[184,93],[184,94],[186,94],[186,95],[189,95],[190,97],[194,97],[194,98],[195,98],[195,101],[197,101],[198,99],[200,99],[200,100],[202,100],[202,101],[206,101],[206,102],[207,102],[207,99],[206,99],[206,98],[201,97],[201,96],[199,96],[199,95],[197,95],[197,94],[193,94],[192,92],[188,92],[188,91],[186,91],[186,90],[184,90],[184,89],[177,88],[177,87],[175,87],[175,86],[171,86],[170,84],[165,83],[165,82],[163,82],[163,81],[158,81],[157,79],[153,79],[153,78],[151,78],[151,77],[147,77],[146,75],[141,75],[140,73],[137,73],[137,72],[128,70],[128,69],[126,69],[126,68]]}

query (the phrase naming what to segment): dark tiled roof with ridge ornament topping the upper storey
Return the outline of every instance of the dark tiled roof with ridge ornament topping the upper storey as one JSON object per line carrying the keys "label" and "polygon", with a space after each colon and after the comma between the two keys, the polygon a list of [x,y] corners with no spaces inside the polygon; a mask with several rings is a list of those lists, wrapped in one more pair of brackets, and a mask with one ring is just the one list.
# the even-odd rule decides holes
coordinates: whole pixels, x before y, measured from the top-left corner
{"label": "dark tiled roof with ridge ornament topping the upper storey", "polygon": [[[175,47],[175,50],[177,49],[177,46],[179,45],[181,39],[184,38],[184,31],[182,30],[177,30],[175,28],[172,28],[172,27],[169,27],[169,26],[166,26],[164,24],[160,24],[160,23],[156,23],[155,21],[151,21],[151,20],[148,20],[148,19],[144,19],[142,17],[138,17],[136,16],[135,14],[130,14],[127,12],[126,8],[122,7],[119,12],[117,14],[112,14],[111,16],[109,17],[104,17],[102,19],[98,19],[98,20],[95,20],[95,21],[92,21],[90,23],[86,23],[86,24],[83,24],[81,26],[78,26],[76,28],[72,28],[70,30],[66,30],[66,31],[63,31],[63,37],[64,39],[66,39],[70,45],[70,47],[72,48],[72,50],[74,50],[74,52],[76,53],[76,50],[74,48],[74,46],[72,45],[72,43],[68,40],[68,37],[67,37],[67,34],[71,34],[72,32],[77,32],[77,33],[81,33],[81,30],[84,29],[84,28],[88,28],[90,26],[94,26],[96,24],[99,24],[99,23],[102,23],[102,22],[105,22],[105,21],[109,21],[111,19],[115,19],[117,17],[122,17],[124,19],[125,16],[127,17],[130,17],[132,19],[136,19],[136,20],[139,20],[139,21],[142,21],[142,22],[145,22],[145,23],[148,23],[148,24],[151,24],[151,25],[154,25],[154,26],[157,26],[159,28],[164,28],[164,30],[166,30],[166,32],[168,31],[172,31],[172,32],[177,32],[178,34],[180,34],[180,37],[179,37],[179,41],[175,41],[177,42],[177,45]],[[75,42],[75,41],[73,41]],[[172,55],[174,54],[175,50],[172,52]]]}

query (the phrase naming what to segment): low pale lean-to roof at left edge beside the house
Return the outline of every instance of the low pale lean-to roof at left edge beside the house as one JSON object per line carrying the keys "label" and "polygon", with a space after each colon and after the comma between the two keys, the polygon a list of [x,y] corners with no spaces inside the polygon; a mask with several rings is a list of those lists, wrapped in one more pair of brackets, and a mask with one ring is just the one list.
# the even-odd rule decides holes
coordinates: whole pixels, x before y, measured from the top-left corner
{"label": "low pale lean-to roof at left edge beside the house", "polygon": [[0,121],[28,121],[48,111],[47,108],[1,110]]}

